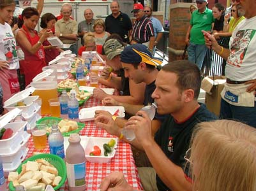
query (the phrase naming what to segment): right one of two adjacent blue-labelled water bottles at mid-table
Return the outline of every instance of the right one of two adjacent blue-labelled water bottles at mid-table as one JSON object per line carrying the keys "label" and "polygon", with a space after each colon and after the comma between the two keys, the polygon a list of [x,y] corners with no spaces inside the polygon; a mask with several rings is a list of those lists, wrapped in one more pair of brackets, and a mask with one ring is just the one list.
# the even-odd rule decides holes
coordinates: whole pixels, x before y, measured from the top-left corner
{"label": "right one of two adjacent blue-labelled water bottles at mid-table", "polygon": [[79,120],[79,102],[75,98],[75,90],[70,91],[70,100],[68,101],[68,118],[70,120]]}

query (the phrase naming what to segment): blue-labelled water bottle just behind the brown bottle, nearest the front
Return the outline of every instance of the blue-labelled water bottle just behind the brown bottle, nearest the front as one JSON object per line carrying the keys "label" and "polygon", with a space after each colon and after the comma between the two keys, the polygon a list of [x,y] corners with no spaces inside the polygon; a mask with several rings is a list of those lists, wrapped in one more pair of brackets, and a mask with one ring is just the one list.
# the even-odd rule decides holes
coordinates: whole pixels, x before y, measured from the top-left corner
{"label": "blue-labelled water bottle just behind the brown bottle, nearest the front", "polygon": [[59,132],[57,125],[52,125],[52,132],[49,134],[48,143],[50,153],[64,159],[64,138],[61,132]]}

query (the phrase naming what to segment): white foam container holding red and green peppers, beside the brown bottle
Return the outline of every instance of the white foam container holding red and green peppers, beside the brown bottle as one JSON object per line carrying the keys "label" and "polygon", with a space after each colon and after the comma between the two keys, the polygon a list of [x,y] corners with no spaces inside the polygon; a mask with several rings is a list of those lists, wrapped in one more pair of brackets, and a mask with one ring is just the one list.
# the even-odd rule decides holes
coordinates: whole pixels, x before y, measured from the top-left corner
{"label": "white foam container holding red and green peppers, beside the brown bottle", "polygon": [[[108,143],[110,139],[114,139],[116,141],[116,144],[114,147],[112,147],[112,152],[108,153],[108,157],[104,156],[104,148],[103,144]],[[107,163],[110,162],[110,160],[114,157],[116,154],[116,148],[117,148],[117,138],[94,138],[90,137],[87,145],[85,146],[84,152],[86,153],[86,159],[89,162],[94,162],[94,163]],[[100,156],[90,156],[89,153],[93,151],[93,146],[98,146],[100,150],[102,150]]]}

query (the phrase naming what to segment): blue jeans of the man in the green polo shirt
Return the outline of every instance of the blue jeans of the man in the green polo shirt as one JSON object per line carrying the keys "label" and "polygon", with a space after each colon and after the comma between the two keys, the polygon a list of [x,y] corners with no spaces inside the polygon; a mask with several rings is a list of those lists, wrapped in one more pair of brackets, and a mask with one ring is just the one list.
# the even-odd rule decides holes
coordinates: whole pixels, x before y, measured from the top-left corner
{"label": "blue jeans of the man in the green polo shirt", "polygon": [[197,64],[199,69],[202,67],[202,62],[204,62],[204,57],[206,56],[206,45],[195,45],[190,43],[188,45],[188,60]]}

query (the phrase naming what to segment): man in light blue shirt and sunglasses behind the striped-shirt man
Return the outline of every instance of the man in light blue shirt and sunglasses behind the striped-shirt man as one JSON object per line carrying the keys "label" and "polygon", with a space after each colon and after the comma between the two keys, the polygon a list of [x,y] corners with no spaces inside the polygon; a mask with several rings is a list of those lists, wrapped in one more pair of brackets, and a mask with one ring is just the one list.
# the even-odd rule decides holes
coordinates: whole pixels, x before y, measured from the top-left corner
{"label": "man in light blue shirt and sunglasses behind the striped-shirt man", "polygon": [[160,41],[160,39],[163,36],[163,26],[161,24],[161,22],[152,16],[152,8],[149,6],[146,6],[144,8],[144,13],[146,15],[147,18],[149,18],[151,20],[151,22],[153,23],[153,27],[154,27],[154,46],[156,46],[158,44],[158,42]]}

